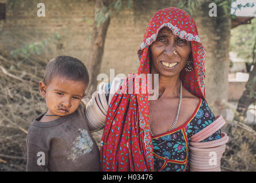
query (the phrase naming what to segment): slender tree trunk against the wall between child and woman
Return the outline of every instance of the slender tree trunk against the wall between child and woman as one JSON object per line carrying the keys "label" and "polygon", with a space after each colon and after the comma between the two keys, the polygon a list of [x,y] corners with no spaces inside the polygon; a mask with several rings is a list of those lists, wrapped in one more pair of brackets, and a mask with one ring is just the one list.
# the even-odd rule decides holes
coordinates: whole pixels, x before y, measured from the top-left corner
{"label": "slender tree trunk against the wall between child and woman", "polygon": [[[93,33],[90,42],[90,55],[89,55],[89,76],[90,76],[90,83],[88,86],[88,96],[90,97],[91,94],[96,91],[97,87],[97,75],[100,73],[101,61],[103,58],[104,53],[104,44],[105,44],[105,37],[107,34],[108,26],[110,23],[109,15],[109,8],[110,8],[109,0],[96,0],[94,5],[94,27]],[[104,22],[97,23],[96,14],[99,13],[101,10],[105,8],[102,16],[107,17]],[[99,18],[99,17],[98,17]],[[102,18],[102,17],[101,17]]]}

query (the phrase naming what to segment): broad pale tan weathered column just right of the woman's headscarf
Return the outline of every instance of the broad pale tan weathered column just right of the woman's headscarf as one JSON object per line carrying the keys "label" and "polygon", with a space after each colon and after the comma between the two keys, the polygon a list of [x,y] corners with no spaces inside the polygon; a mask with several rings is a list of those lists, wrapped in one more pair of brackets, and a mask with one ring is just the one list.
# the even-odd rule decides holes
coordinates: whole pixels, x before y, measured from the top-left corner
{"label": "broad pale tan weathered column just right of the woman's headscarf", "polygon": [[206,46],[206,100],[215,116],[222,114],[226,118],[231,18],[223,6],[218,6],[217,17],[210,17],[210,3],[211,0],[202,1],[192,17],[196,19],[199,36]]}

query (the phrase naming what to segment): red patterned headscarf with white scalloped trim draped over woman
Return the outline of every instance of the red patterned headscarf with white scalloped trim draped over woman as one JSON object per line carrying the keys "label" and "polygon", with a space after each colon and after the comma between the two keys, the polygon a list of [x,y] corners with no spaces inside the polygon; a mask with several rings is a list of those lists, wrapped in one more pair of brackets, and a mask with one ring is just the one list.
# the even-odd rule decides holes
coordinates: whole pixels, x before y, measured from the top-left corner
{"label": "red patterned headscarf with white scalloped trim draped over woman", "polygon": [[[200,42],[194,19],[186,11],[176,7],[157,11],[148,23],[138,51],[140,66],[137,74],[149,74],[149,46],[164,26],[169,27],[180,38],[191,41],[194,70],[186,72],[183,69],[180,79],[189,92],[205,99],[206,50]],[[113,96],[108,108],[101,144],[103,171],[153,171],[153,148],[148,124],[149,93],[122,94],[128,80],[129,78],[121,87],[123,92]]]}

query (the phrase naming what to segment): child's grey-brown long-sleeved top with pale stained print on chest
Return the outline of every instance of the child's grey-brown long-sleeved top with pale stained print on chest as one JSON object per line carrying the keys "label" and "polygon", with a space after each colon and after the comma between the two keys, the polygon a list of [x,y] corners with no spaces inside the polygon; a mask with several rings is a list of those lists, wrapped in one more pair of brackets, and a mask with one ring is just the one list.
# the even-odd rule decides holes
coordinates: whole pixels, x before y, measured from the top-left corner
{"label": "child's grey-brown long-sleeved top with pale stained print on chest", "polygon": [[27,171],[100,171],[100,152],[85,118],[85,105],[68,116],[40,122],[27,133]]}

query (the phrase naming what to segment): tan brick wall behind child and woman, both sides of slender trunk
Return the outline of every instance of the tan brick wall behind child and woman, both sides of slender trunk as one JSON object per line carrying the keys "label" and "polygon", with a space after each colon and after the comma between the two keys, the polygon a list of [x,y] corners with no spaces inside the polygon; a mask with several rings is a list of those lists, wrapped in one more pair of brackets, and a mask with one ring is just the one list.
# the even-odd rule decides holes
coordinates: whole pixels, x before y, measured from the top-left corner
{"label": "tan brick wall behind child and woman, both sides of slender trunk", "polygon": [[[72,55],[85,62],[89,54],[90,34],[93,22],[94,1],[42,0],[46,17],[37,17],[37,1],[10,1],[7,3],[7,19],[0,33],[0,43],[5,49],[20,47],[52,37],[55,32],[63,48],[58,53]],[[137,71],[137,49],[141,45],[149,20],[157,10],[175,6],[178,1],[134,0],[128,9],[124,3],[120,13],[112,11],[111,23],[105,41],[101,73],[109,75]],[[55,55],[52,55],[54,57]]]}

